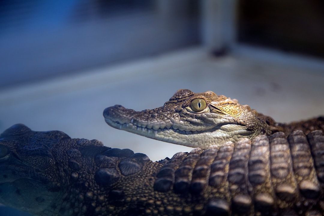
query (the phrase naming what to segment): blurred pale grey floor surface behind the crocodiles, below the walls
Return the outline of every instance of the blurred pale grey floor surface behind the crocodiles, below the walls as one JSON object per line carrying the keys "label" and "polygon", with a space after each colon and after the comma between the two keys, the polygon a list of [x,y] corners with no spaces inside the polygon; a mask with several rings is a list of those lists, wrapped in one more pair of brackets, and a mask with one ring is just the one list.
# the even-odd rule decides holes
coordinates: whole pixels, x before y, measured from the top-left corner
{"label": "blurred pale grey floor surface behind the crocodiles, below the walls", "polygon": [[3,90],[0,131],[23,123],[35,131],[60,130],[72,138],[98,139],[160,160],[191,148],[113,129],[102,111],[115,104],[138,111],[160,107],[179,88],[236,98],[277,121],[324,115],[321,67],[214,58],[202,48],[192,48]]}

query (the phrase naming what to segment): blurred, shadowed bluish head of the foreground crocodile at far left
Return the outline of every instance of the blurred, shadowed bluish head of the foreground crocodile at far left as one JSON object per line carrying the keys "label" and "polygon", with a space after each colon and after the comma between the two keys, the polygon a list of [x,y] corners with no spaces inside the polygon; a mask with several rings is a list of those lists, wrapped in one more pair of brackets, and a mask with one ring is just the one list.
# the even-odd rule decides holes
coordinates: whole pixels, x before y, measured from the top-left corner
{"label": "blurred, shadowed bluish head of the foreground crocodile at far left", "polygon": [[35,132],[22,124],[4,131],[0,135],[0,203],[43,214],[61,191],[52,148],[66,138],[60,131]]}

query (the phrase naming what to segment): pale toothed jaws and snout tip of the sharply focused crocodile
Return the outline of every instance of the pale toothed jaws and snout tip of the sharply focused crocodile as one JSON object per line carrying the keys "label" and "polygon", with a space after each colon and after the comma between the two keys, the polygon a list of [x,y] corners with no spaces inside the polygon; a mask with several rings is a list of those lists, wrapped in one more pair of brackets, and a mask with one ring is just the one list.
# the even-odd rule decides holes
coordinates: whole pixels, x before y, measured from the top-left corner
{"label": "pale toothed jaws and snout tip of the sharply focused crocodile", "polygon": [[120,105],[106,108],[103,115],[106,123],[113,128],[193,148],[207,149],[211,145],[220,145],[224,141],[234,142],[240,138],[254,136],[253,131],[248,130],[248,127],[226,122],[226,119],[221,119],[219,124],[200,128],[200,131],[188,131],[186,127],[181,127],[177,122],[169,119],[167,122],[160,122],[159,119],[145,122],[140,118],[145,115],[143,111],[136,112]]}

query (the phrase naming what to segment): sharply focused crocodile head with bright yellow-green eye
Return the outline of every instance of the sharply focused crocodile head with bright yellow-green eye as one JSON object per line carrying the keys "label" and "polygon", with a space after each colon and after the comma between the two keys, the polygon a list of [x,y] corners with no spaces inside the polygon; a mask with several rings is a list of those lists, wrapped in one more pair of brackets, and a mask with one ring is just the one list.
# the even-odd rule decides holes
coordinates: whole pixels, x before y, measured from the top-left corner
{"label": "sharply focused crocodile head with bright yellow-green eye", "polygon": [[195,94],[180,89],[163,107],[137,112],[115,105],[106,108],[103,115],[114,128],[202,149],[271,133],[264,116],[212,91]]}

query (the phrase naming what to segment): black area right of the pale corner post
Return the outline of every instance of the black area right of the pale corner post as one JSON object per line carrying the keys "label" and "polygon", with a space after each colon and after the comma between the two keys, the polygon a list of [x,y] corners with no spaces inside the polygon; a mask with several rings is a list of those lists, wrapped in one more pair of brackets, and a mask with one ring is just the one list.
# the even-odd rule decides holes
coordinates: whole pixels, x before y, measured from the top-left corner
{"label": "black area right of the pale corner post", "polygon": [[324,57],[324,2],[240,0],[238,41]]}

